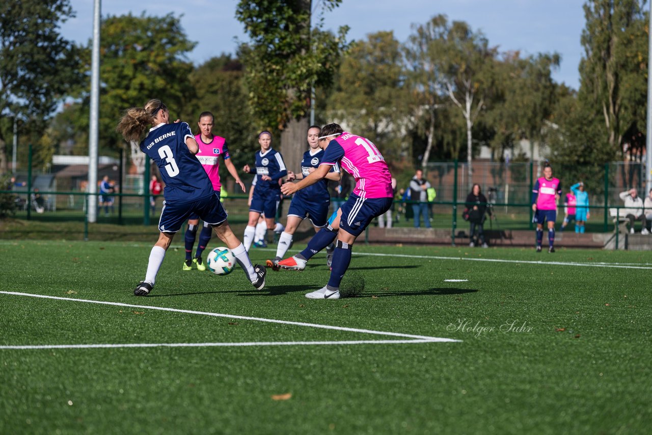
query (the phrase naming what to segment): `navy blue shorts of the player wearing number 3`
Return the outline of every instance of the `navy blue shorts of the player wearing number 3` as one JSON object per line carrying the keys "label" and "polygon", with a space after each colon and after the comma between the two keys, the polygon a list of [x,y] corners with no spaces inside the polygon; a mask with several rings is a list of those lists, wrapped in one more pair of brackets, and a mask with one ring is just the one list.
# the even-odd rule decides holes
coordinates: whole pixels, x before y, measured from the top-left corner
{"label": "navy blue shorts of the player wearing number 3", "polygon": [[163,202],[158,230],[162,233],[176,233],[193,213],[209,225],[221,224],[226,220],[226,211],[220,196],[213,194],[195,202]]}

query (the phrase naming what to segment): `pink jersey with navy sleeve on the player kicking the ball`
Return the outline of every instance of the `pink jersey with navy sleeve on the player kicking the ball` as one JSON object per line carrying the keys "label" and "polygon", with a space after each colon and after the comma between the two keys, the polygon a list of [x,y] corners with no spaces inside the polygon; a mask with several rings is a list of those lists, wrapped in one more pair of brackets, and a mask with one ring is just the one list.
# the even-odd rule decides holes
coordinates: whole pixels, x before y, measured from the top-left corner
{"label": "pink jersey with navy sleeve on the player kicking the ball", "polygon": [[392,174],[385,158],[370,140],[348,132],[342,133],[329,143],[321,164],[334,165],[338,160],[342,168],[355,178],[354,194],[361,198],[394,197]]}

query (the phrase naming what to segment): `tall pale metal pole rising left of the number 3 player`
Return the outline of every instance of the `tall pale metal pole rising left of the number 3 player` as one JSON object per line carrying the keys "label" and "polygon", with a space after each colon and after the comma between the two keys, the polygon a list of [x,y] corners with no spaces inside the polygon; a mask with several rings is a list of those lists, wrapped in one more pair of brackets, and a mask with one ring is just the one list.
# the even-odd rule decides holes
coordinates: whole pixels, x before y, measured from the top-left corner
{"label": "tall pale metal pole rising left of the number 3 player", "polygon": [[93,57],[91,65],[91,113],[88,140],[88,221],[97,222],[97,158],[100,117],[100,10],[101,1],[93,6]]}

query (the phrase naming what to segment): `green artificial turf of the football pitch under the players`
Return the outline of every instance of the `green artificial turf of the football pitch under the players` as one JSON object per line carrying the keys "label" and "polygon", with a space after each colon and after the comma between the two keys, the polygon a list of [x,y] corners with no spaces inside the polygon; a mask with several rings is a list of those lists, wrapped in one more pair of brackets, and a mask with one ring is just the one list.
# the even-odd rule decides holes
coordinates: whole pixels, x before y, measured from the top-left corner
{"label": "green artificial turf of the football pitch under the players", "polygon": [[364,292],[313,301],[323,254],[256,291],[239,268],[182,271],[180,245],[134,297],[150,249],[2,241],[4,292],[140,307],[0,293],[0,346],[411,340],[147,307],[461,341],[0,349],[0,433],[629,434],[652,419],[647,252],[361,244]]}

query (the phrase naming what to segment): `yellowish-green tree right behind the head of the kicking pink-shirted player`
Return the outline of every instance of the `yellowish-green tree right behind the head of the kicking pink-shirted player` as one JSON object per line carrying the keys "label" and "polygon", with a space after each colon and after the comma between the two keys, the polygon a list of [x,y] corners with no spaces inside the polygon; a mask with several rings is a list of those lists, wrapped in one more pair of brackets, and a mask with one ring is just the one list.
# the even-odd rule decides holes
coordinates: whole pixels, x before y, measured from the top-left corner
{"label": "yellowish-green tree right behind the head of the kicking pink-shirted player", "polygon": [[404,151],[406,128],[405,72],[393,32],[367,35],[344,56],[329,98],[332,119],[344,119],[356,134],[372,139],[391,164]]}

